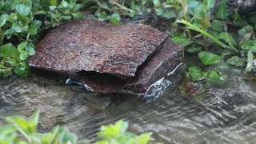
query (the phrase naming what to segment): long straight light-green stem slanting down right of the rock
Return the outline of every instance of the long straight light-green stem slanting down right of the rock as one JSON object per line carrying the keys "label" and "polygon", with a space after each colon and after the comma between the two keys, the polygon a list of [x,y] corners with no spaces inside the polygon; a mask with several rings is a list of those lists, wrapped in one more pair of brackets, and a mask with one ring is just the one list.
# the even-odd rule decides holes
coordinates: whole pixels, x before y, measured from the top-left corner
{"label": "long straight light-green stem slanting down right of the rock", "polygon": [[190,22],[186,22],[186,20],[182,19],[182,22],[186,25],[186,26],[190,26],[190,28],[192,28],[193,30],[198,31],[201,34],[206,35],[206,37],[212,39],[214,42],[218,43],[218,45],[224,47],[224,48],[228,48],[230,50],[234,50],[235,52],[238,52],[237,49],[230,47],[230,46],[226,46],[223,42],[219,41],[217,38],[214,38],[214,36],[212,36],[211,34],[207,33],[205,30],[200,29],[197,26],[192,25]]}

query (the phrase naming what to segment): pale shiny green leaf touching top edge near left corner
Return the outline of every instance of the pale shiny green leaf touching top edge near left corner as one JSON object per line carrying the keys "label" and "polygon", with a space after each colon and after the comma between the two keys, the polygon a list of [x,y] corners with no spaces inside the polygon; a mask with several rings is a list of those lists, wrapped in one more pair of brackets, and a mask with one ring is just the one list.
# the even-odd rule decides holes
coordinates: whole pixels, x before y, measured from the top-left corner
{"label": "pale shiny green leaf touching top edge near left corner", "polygon": [[31,0],[22,0],[21,2],[18,2],[18,4],[15,6],[15,9],[17,10],[18,14],[24,14],[24,15],[30,14],[31,8],[32,8]]}

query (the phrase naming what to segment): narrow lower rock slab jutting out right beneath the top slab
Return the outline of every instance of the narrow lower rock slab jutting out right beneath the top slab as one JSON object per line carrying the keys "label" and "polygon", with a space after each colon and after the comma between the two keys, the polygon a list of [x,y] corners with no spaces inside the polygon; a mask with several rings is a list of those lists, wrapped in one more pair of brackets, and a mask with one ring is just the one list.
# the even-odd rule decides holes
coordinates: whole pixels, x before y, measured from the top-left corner
{"label": "narrow lower rock slab jutting out right beneath the top slab", "polygon": [[156,80],[174,70],[182,61],[182,54],[182,46],[166,40],[162,43],[162,49],[158,54],[155,54],[149,62],[138,69],[138,74],[126,82],[123,90],[130,90],[136,94],[145,92]]}

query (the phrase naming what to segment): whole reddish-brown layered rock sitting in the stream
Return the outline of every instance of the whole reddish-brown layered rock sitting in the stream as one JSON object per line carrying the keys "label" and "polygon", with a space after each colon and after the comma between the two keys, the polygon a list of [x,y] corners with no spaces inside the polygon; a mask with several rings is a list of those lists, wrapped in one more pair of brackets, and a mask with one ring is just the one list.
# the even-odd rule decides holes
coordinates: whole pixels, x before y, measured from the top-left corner
{"label": "whole reddish-brown layered rock sitting in the stream", "polygon": [[99,93],[143,93],[182,60],[182,47],[150,26],[78,19],[50,31],[30,66],[66,74]]}

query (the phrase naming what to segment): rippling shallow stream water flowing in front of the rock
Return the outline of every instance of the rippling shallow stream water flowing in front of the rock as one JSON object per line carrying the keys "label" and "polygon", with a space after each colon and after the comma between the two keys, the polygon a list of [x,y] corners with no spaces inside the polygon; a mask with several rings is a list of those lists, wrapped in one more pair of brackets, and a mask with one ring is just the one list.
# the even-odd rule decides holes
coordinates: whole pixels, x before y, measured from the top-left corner
{"label": "rippling shallow stream water flowing in front of the rock", "polygon": [[29,116],[41,110],[40,131],[65,125],[83,142],[94,142],[100,126],[124,119],[135,133],[153,132],[154,142],[254,143],[255,80],[229,67],[223,70],[227,78],[223,86],[210,87],[201,100],[188,100],[178,90],[186,65],[165,79],[170,86],[158,91],[158,98],[86,94],[79,86],[66,86],[65,78],[46,72],[1,79],[0,124],[6,116]]}

